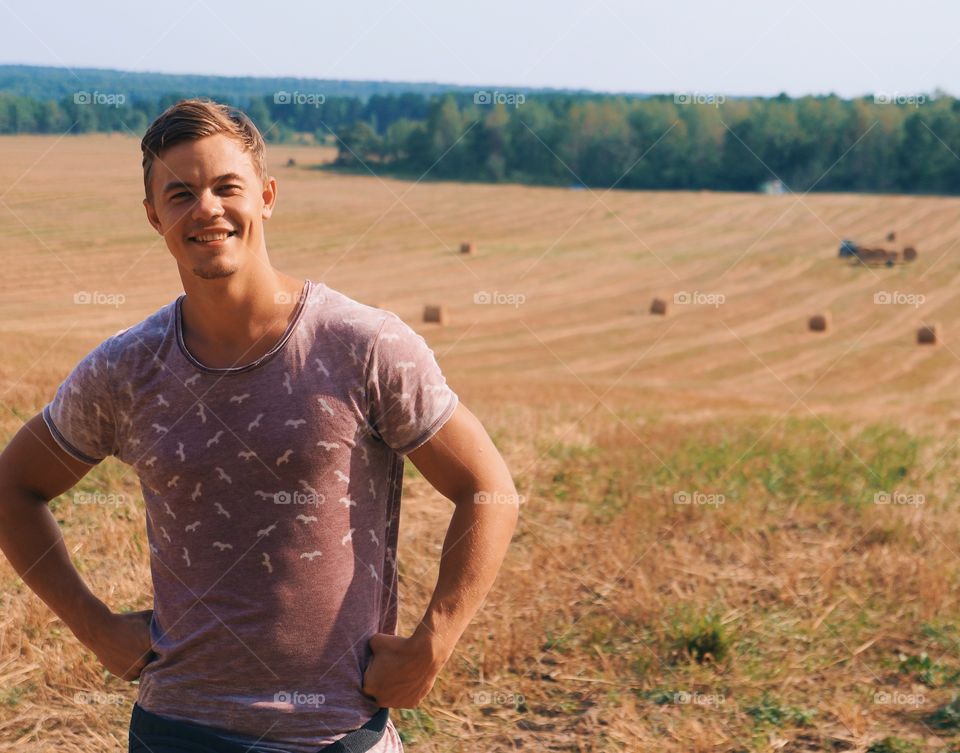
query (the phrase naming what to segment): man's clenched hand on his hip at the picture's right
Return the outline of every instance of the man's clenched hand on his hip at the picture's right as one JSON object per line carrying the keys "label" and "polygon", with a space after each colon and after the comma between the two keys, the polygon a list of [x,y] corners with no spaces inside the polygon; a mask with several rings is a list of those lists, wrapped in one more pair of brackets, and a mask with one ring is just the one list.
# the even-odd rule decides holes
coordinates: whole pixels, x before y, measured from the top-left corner
{"label": "man's clenched hand on his hip at the picture's right", "polygon": [[363,673],[363,692],[386,708],[416,708],[446,661],[416,635],[376,633],[370,638],[370,650],[373,657]]}

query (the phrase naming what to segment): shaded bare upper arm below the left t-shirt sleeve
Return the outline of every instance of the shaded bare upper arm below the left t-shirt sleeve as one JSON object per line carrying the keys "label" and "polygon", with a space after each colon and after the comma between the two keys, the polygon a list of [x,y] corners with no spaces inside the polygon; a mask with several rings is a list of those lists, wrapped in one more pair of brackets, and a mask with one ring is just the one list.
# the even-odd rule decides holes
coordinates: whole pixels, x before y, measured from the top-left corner
{"label": "shaded bare upper arm below the left t-shirt sleeve", "polygon": [[[93,465],[57,444],[43,414],[27,421],[0,453],[0,487],[21,489],[51,500],[89,473]],[[3,500],[0,499],[0,504]]]}

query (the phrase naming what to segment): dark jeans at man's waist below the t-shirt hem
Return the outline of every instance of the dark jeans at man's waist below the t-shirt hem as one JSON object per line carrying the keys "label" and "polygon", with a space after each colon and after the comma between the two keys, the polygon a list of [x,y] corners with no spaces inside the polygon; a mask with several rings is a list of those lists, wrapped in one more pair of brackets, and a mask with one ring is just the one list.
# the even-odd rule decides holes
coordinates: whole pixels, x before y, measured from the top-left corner
{"label": "dark jeans at man's waist below the t-shirt hem", "polygon": [[[355,753],[372,748],[379,742],[386,729],[387,709],[380,711],[363,727],[355,730],[331,745],[320,748],[317,753]],[[227,732],[223,730],[223,732]],[[249,748],[216,734],[217,729],[193,722],[182,722],[152,714],[140,704],[133,704],[130,715],[129,753],[249,753]],[[264,747],[276,749],[265,742]]]}

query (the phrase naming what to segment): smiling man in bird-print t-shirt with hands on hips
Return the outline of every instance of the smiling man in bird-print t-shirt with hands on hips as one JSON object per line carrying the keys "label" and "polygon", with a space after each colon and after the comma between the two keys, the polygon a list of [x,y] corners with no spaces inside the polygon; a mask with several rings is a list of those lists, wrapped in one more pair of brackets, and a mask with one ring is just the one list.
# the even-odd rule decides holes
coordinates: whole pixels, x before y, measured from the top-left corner
{"label": "smiling man in bird-print t-shirt with hands on hips", "polygon": [[[492,586],[510,473],[422,337],[270,264],[277,182],[246,115],[184,100],[141,148],[185,292],[88,353],[0,455],[0,548],[107,669],[139,678],[131,751],[401,751],[386,709],[424,698]],[[152,610],[92,594],[44,504],[107,455],[140,478]],[[401,637],[408,455],[456,508]]]}

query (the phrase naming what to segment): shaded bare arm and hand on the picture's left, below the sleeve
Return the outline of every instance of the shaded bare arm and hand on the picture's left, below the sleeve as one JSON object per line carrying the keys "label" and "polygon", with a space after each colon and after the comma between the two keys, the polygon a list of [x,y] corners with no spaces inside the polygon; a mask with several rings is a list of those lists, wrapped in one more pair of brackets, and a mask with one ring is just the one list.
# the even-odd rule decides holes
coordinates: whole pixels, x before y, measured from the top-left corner
{"label": "shaded bare arm and hand on the picture's left, below the sleeve", "polygon": [[92,467],[56,443],[42,415],[27,421],[0,453],[0,550],[108,670],[134,680],[151,650],[151,611],[115,615],[90,591],[47,505]]}

